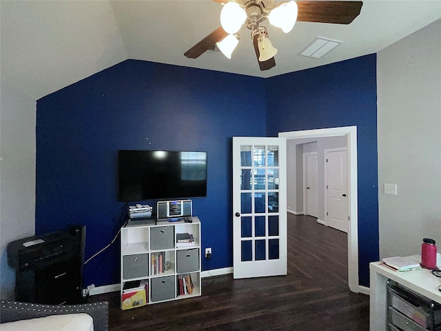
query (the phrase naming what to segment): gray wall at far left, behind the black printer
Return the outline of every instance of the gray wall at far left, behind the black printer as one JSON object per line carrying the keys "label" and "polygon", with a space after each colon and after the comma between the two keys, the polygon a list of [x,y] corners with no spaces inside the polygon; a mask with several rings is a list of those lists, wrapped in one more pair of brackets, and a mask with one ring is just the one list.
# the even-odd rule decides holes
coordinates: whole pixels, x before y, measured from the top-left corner
{"label": "gray wall at far left, behind the black printer", "polygon": [[14,299],[14,270],[6,245],[35,234],[36,102],[17,90],[0,88],[0,277],[1,299]]}

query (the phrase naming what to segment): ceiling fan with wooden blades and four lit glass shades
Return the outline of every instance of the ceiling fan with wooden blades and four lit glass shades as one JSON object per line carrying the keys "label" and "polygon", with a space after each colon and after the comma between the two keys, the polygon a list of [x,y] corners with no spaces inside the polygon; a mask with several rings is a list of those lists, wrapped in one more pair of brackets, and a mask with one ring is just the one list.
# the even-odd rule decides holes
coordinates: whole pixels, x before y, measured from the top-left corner
{"label": "ceiling fan with wooden blades and four lit glass shades", "polygon": [[[213,1],[225,3],[227,0]],[[275,6],[274,0],[227,1],[220,12],[221,26],[184,55],[196,59],[218,46],[231,59],[240,32],[247,28],[251,30],[260,70],[268,70],[276,66],[274,55],[277,49],[269,41],[267,28],[260,23],[268,20],[271,26],[281,28],[285,33],[291,31],[296,21],[349,24],[360,14],[362,4],[362,1],[289,1]]]}

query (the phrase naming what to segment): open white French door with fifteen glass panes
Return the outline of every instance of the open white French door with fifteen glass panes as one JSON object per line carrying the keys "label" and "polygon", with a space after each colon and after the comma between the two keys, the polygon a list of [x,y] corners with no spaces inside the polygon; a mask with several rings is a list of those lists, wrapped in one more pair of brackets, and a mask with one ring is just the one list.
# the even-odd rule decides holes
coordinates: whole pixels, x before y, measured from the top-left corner
{"label": "open white French door with fifteen glass panes", "polygon": [[285,138],[233,137],[234,278],[287,274]]}

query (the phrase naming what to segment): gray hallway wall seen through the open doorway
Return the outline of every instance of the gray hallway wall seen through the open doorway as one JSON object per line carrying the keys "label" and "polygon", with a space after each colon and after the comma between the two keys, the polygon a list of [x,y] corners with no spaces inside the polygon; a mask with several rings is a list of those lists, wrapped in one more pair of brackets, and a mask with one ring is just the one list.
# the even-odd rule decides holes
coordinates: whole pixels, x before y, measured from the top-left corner
{"label": "gray hallway wall seen through the open doorway", "polygon": [[289,139],[287,141],[287,206],[303,214],[303,153],[317,152],[318,219],[325,221],[325,150],[347,147],[347,137]]}

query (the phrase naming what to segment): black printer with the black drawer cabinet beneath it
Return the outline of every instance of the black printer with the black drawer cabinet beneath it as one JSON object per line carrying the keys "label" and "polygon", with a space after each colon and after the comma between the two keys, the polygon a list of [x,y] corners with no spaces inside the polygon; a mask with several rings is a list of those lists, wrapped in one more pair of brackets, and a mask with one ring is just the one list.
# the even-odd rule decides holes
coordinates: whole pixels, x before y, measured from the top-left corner
{"label": "black printer with the black drawer cabinet beneath it", "polygon": [[39,234],[8,243],[16,270],[15,299],[30,303],[80,303],[85,226]]}

